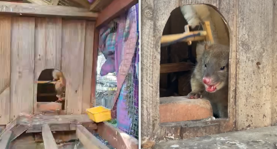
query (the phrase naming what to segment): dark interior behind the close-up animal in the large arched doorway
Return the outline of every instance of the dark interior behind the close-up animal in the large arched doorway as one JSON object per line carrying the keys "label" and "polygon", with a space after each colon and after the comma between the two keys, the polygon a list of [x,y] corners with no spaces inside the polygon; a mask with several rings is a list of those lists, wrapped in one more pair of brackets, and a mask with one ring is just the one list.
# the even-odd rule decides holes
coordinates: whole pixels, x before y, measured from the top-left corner
{"label": "dark interior behind the close-up animal in the large arched doorway", "polygon": [[[181,13],[180,7],[171,12],[162,35],[185,32],[187,21]],[[201,26],[190,31],[203,30]],[[161,47],[160,59],[160,97],[186,96],[191,92],[190,75],[196,63],[196,44],[179,42]]]}

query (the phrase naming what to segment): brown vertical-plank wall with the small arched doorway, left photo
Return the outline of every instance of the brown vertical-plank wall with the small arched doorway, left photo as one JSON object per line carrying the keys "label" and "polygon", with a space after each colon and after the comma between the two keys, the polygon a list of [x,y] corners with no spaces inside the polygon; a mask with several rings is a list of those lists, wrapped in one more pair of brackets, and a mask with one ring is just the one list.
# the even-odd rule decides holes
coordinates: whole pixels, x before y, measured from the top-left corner
{"label": "brown vertical-plank wall with the small arched doorway, left photo", "polygon": [[67,114],[81,114],[91,103],[94,22],[0,16],[0,125],[36,103],[40,72],[65,74]]}

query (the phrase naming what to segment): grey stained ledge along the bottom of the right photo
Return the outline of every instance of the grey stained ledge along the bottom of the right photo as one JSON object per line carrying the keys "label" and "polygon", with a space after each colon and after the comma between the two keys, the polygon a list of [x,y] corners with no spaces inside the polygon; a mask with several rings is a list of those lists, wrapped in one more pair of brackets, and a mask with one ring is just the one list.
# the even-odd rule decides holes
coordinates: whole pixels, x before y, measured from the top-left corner
{"label": "grey stained ledge along the bottom of the right photo", "polygon": [[154,149],[277,149],[277,126],[156,143]]}

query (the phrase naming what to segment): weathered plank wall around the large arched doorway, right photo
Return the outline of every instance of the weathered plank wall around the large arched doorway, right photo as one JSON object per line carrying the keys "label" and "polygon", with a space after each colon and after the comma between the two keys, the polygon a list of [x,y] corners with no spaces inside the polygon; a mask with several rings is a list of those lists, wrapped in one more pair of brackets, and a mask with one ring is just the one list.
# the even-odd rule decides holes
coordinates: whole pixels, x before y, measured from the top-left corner
{"label": "weathered plank wall around the large arched doorway, right photo", "polygon": [[141,4],[142,142],[154,139],[160,127],[158,78],[162,31],[171,11],[186,4],[213,5],[229,25],[229,119],[219,131],[277,124],[276,0],[143,0]]}

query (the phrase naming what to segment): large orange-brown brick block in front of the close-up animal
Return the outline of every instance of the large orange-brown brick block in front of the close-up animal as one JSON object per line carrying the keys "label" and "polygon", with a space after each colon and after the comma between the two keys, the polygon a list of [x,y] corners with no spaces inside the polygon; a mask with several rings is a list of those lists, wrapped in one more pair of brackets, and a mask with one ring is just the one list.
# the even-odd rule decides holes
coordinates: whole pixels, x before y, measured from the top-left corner
{"label": "large orange-brown brick block in front of the close-up animal", "polygon": [[211,103],[206,99],[186,96],[160,98],[160,122],[200,120],[213,116]]}

